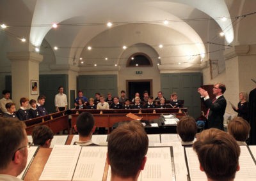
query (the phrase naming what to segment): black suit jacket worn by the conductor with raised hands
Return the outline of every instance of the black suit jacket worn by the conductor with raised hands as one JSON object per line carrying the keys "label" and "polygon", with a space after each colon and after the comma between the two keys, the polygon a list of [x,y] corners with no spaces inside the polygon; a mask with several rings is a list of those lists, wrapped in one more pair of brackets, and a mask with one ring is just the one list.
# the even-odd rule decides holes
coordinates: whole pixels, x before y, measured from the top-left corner
{"label": "black suit jacket worn by the conductor with raised hands", "polygon": [[[202,98],[202,100],[204,101],[204,98]],[[205,106],[210,109],[208,115],[208,128],[215,127],[224,130],[223,115],[225,114],[227,106],[227,101],[224,96],[220,96],[214,103],[212,103],[211,99],[206,99],[204,103]]]}

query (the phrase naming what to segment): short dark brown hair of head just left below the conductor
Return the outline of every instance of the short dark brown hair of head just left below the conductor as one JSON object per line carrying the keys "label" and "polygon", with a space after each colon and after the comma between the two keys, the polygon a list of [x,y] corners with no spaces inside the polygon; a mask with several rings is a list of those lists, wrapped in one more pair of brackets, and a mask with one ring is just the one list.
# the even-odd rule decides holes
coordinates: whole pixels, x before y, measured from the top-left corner
{"label": "short dark brown hair of head just left below the conductor", "polygon": [[193,141],[197,133],[195,119],[190,116],[184,116],[177,124],[177,133],[182,141]]}

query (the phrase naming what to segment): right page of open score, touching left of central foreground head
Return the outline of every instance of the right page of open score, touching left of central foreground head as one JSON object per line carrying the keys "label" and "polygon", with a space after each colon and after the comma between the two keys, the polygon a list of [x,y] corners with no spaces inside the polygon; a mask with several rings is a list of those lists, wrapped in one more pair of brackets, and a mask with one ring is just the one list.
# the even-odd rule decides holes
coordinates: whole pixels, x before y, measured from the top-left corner
{"label": "right page of open score, touching left of central foreground head", "polygon": [[83,147],[73,180],[102,180],[108,147]]}

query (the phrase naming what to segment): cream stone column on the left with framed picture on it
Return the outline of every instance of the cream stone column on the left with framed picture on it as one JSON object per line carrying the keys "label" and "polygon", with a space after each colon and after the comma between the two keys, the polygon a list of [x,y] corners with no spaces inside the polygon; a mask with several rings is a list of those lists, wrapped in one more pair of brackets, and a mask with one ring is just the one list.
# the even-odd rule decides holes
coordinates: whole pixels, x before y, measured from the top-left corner
{"label": "cream stone column on the left with framed picture on it", "polygon": [[[8,59],[12,62],[12,100],[16,108],[20,107],[22,97],[37,99],[39,90],[39,63],[43,56],[36,52],[8,52]],[[38,81],[38,94],[31,94],[31,80]]]}

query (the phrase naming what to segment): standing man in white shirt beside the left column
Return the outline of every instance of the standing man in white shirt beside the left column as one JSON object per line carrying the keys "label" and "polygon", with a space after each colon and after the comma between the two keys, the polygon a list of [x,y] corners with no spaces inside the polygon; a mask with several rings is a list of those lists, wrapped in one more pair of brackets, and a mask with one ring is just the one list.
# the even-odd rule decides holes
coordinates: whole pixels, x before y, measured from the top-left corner
{"label": "standing man in white shirt beside the left column", "polygon": [[64,88],[62,86],[59,87],[59,93],[56,94],[54,103],[57,112],[61,112],[67,109],[68,101],[66,94],[63,94]]}

